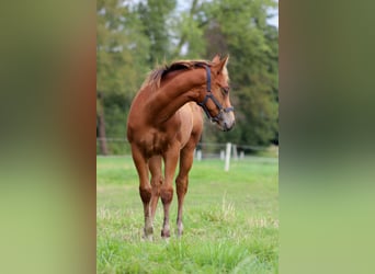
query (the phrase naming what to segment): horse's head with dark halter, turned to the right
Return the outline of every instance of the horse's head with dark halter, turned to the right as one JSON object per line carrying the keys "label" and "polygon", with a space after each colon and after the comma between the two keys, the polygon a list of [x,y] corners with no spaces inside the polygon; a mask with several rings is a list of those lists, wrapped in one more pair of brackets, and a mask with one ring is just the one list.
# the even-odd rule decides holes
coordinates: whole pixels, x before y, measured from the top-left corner
{"label": "horse's head with dark halter, turned to the right", "polygon": [[234,107],[229,100],[228,58],[229,56],[220,59],[216,55],[211,66],[205,66],[206,89],[202,90],[197,102],[207,117],[223,132],[230,130],[235,125]]}

